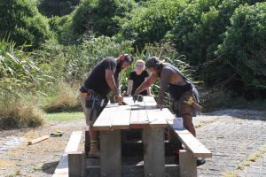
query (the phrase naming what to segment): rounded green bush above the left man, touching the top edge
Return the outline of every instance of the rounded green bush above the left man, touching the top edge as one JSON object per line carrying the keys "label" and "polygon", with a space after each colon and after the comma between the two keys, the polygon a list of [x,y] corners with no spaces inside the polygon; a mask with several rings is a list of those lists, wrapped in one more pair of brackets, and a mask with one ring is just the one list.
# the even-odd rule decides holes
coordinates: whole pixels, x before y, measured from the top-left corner
{"label": "rounded green bush above the left man, touching the top edge", "polygon": [[119,29],[118,19],[132,9],[133,2],[84,0],[71,14],[71,24],[66,26],[66,31],[72,31],[74,35],[113,36]]}

